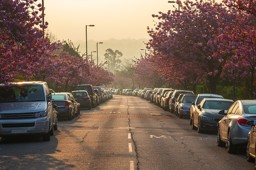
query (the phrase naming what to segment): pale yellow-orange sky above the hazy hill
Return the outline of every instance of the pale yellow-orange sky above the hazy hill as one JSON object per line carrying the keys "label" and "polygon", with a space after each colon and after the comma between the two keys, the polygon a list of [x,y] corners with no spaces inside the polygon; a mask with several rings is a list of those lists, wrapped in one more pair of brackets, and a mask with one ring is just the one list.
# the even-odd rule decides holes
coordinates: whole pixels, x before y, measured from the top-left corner
{"label": "pale yellow-orange sky above the hazy hill", "polygon": [[[178,8],[178,4],[168,3],[168,0],[44,0],[44,20],[49,23],[48,29],[59,40],[85,43],[86,25],[95,25],[87,26],[87,44],[89,40],[101,42],[113,38],[149,40],[147,26],[155,28],[154,20],[159,22],[152,14],[174,10],[173,5]],[[80,46],[84,47],[85,44]],[[95,51],[96,44],[94,46],[93,49],[88,49],[88,54]],[[104,44],[100,55],[107,48],[107,44]],[[140,54],[140,48],[145,48],[143,42],[138,49],[127,50],[137,50]],[[86,51],[83,50],[82,53]]]}

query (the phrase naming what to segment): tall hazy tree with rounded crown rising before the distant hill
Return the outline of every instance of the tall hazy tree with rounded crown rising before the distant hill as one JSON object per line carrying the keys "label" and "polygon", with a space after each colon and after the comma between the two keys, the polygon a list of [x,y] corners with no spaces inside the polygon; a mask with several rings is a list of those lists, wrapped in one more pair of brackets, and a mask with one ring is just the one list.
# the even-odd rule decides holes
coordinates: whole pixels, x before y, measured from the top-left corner
{"label": "tall hazy tree with rounded crown rising before the distant hill", "polygon": [[121,60],[119,58],[123,56],[120,51],[113,51],[112,49],[108,48],[106,49],[106,53],[104,54],[104,56],[105,60],[108,60],[109,70],[114,71],[120,68],[119,64],[121,63]]}

